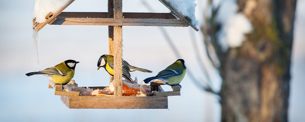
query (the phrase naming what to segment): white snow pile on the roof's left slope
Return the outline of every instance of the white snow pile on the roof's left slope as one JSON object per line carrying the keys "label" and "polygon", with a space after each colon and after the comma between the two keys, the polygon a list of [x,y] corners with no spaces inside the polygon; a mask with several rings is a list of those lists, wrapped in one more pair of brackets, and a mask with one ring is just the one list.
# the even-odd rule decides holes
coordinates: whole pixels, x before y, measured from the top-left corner
{"label": "white snow pile on the roof's left slope", "polygon": [[47,16],[48,13],[56,13],[69,1],[70,0],[36,0],[33,12],[33,18],[36,18],[35,22],[45,22],[45,16]]}

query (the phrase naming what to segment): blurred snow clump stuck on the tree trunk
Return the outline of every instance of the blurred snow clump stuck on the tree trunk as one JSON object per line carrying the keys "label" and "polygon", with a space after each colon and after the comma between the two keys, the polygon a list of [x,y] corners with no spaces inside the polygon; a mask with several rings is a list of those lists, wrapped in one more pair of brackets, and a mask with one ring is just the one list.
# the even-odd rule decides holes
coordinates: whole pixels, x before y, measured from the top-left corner
{"label": "blurred snow clump stuck on the tree trunk", "polygon": [[241,46],[245,39],[245,34],[253,30],[248,18],[240,12],[237,13],[237,11],[236,0],[224,0],[219,6],[216,20],[222,26],[217,36],[223,52],[226,52],[229,47]]}

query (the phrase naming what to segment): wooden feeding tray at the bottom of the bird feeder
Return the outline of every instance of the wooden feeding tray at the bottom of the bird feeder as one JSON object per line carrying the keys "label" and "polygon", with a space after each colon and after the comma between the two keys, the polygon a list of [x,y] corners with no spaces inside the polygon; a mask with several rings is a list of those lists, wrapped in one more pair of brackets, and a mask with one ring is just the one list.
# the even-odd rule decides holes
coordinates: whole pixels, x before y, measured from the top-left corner
{"label": "wooden feeding tray at the bottom of the bird feeder", "polygon": [[[173,91],[164,91],[162,82],[152,82],[148,96],[81,96],[77,91],[63,91],[62,85],[49,81],[49,88],[55,89],[55,95],[70,109],[167,109],[167,96],[180,95],[180,86]],[[65,86],[64,86],[65,87]],[[89,87],[103,89],[106,87]]]}

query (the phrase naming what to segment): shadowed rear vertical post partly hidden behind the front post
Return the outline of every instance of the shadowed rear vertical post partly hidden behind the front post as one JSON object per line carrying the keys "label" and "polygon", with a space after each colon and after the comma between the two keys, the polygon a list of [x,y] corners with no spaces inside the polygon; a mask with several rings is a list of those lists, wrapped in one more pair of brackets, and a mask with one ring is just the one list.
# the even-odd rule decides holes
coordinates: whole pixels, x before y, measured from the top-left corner
{"label": "shadowed rear vertical post partly hidden behind the front post", "polygon": [[[108,18],[113,18],[113,0],[108,0]],[[108,26],[109,55],[113,56],[113,26]],[[111,82],[111,75],[109,82]]]}

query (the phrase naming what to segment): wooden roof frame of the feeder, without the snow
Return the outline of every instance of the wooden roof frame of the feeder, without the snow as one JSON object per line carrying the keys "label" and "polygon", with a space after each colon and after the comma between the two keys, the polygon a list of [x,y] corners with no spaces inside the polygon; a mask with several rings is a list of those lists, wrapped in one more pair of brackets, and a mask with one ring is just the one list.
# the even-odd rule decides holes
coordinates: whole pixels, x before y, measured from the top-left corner
{"label": "wooden roof frame of the feeder, without the snow", "polygon": [[124,18],[108,18],[107,12],[62,12],[74,0],[70,0],[56,13],[49,13],[46,21],[36,23],[33,19],[33,27],[36,31],[46,24],[52,25],[108,25],[108,26],[172,26],[172,27],[195,27],[188,16],[182,16],[176,9],[165,0],[159,0],[170,9],[171,13],[123,13]]}

